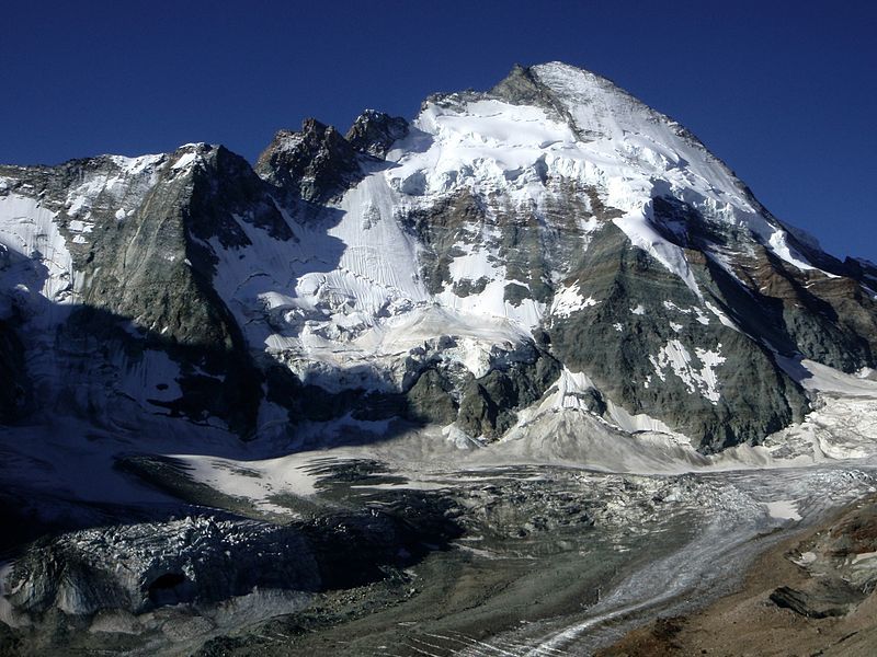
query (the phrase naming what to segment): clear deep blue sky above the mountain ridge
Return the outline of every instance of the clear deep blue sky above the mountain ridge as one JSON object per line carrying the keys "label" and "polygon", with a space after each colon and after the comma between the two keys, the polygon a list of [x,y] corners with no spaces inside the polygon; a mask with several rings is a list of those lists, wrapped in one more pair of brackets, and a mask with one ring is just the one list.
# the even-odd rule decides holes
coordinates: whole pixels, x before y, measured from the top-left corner
{"label": "clear deep blue sky above the mountain ridge", "polygon": [[863,0],[8,2],[0,162],[190,141],[253,160],[315,116],[412,117],[562,60],[692,129],[781,219],[877,262],[877,3]]}

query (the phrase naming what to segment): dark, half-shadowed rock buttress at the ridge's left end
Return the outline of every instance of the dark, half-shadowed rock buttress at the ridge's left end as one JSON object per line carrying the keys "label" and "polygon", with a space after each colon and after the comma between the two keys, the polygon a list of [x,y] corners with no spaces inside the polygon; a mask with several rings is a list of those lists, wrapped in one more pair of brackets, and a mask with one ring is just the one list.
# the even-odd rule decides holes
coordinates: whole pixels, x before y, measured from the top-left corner
{"label": "dark, half-shadowed rock buttress at the ridge's left end", "polygon": [[[260,379],[213,287],[212,244],[248,243],[248,223],[281,241],[292,232],[249,164],[221,147],[191,146],[169,155],[77,160],[15,173],[8,186],[13,198],[20,192],[39,198],[57,231],[50,252],[12,272],[18,323],[39,321],[41,312],[47,319],[34,295],[50,285],[45,268],[61,268],[52,299],[60,306],[48,309],[57,323],[25,343],[55,342],[71,361],[67,367],[79,372],[60,388],[64,374],[42,372],[43,403],[104,407],[114,392],[137,394],[107,390],[106,368],[113,378],[146,369],[152,385],[139,394],[152,405],[196,420],[217,416],[244,435],[252,430]],[[93,385],[83,385],[83,374]]]}

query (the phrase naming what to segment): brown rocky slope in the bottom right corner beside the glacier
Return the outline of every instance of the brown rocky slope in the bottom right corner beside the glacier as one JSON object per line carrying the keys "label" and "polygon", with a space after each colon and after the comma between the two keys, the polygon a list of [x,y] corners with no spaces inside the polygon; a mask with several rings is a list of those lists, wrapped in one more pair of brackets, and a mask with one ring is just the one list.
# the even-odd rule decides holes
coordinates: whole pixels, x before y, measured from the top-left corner
{"label": "brown rocky slope in the bottom right corner beside the glacier", "polygon": [[741,589],[659,619],[600,657],[877,654],[877,497],[763,554]]}

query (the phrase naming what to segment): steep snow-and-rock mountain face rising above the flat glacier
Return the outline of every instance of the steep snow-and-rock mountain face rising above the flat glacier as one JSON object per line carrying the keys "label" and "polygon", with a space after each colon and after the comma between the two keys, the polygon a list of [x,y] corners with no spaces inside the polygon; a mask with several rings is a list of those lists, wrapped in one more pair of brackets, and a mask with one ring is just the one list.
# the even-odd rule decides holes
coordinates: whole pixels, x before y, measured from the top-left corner
{"label": "steep snow-and-rock mountain face rising above the flat glacier", "polygon": [[491,441],[588,415],[710,452],[801,419],[801,360],[877,366],[875,289],[674,120],[519,67],[411,123],[308,119],[254,168],[0,166],[0,419]]}

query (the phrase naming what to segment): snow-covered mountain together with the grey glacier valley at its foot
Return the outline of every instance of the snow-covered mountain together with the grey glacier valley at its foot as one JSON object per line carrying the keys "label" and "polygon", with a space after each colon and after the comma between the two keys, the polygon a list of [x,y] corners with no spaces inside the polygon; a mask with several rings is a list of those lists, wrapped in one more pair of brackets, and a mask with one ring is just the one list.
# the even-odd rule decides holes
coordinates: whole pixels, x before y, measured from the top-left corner
{"label": "snow-covered mountain together with the grey glacier valley at its foot", "polygon": [[562,64],[0,166],[0,653],[592,654],[875,489],[875,290]]}

